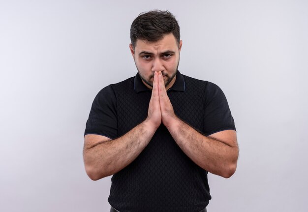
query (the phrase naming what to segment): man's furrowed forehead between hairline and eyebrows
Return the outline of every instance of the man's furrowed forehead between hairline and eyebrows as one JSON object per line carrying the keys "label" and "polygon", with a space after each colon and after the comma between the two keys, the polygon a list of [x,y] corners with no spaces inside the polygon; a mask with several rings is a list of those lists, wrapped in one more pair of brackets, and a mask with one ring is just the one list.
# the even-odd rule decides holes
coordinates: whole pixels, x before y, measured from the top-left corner
{"label": "man's furrowed forehead between hairline and eyebrows", "polygon": [[135,51],[138,52],[154,52],[154,51],[175,51],[178,49],[178,43],[172,33],[166,34],[162,39],[150,42],[138,39],[135,45]]}

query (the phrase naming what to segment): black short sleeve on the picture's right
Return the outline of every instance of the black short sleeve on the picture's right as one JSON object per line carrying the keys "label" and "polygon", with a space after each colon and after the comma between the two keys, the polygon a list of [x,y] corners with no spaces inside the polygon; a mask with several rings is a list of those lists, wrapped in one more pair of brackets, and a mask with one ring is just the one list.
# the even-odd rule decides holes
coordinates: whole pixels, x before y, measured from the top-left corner
{"label": "black short sleeve on the picture's right", "polygon": [[204,132],[206,135],[228,129],[236,130],[227,99],[217,85],[207,82],[204,99]]}

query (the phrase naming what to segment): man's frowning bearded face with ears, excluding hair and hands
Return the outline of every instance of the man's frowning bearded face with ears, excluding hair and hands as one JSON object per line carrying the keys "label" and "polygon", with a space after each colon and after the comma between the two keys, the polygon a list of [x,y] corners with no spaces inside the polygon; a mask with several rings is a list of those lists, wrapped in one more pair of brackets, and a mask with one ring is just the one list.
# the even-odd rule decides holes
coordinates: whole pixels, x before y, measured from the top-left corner
{"label": "man's frowning bearded face with ears, excluding hair and hands", "polygon": [[138,39],[135,49],[129,45],[137,70],[143,83],[153,88],[154,72],[161,71],[168,90],[175,82],[180,61],[182,40],[179,45],[172,33],[154,42]]}

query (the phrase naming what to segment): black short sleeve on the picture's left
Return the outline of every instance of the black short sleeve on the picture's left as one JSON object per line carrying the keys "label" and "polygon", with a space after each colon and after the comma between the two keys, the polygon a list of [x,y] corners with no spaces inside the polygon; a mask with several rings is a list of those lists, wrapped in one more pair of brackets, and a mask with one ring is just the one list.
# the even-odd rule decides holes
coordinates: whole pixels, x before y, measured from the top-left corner
{"label": "black short sleeve on the picture's left", "polygon": [[111,139],[117,137],[116,96],[111,86],[98,92],[92,103],[85,135],[97,134]]}

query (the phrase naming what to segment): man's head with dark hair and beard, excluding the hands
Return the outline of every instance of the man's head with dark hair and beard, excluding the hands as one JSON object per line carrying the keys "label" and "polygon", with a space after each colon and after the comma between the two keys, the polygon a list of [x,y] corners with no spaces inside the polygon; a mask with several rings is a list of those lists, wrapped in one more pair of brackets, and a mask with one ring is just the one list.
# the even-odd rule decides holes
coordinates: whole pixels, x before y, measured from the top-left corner
{"label": "man's head with dark hair and beard, excluding the hands", "polygon": [[129,46],[143,83],[153,87],[154,72],[161,71],[165,86],[171,87],[180,60],[180,27],[169,11],[140,14],[130,28]]}

